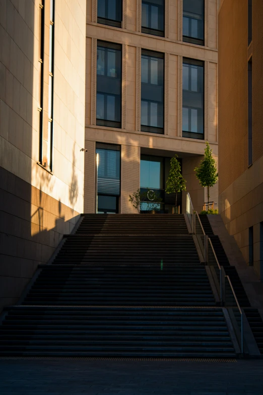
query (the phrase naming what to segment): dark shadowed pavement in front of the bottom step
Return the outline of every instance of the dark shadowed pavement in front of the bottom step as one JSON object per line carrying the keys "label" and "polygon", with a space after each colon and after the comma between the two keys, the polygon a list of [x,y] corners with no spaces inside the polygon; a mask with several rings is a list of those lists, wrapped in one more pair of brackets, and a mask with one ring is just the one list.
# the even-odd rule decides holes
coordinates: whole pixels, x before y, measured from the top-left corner
{"label": "dark shadowed pavement in front of the bottom step", "polygon": [[262,395],[263,360],[0,360],[1,395]]}

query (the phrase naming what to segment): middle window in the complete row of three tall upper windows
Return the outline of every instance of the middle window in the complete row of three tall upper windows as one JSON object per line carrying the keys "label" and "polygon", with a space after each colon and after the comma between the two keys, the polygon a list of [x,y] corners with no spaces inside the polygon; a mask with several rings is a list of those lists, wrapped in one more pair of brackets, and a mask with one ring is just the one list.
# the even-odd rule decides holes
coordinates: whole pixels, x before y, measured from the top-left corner
{"label": "middle window in the complete row of three tall upper windows", "polygon": [[141,96],[141,130],[163,134],[163,53],[142,50]]}

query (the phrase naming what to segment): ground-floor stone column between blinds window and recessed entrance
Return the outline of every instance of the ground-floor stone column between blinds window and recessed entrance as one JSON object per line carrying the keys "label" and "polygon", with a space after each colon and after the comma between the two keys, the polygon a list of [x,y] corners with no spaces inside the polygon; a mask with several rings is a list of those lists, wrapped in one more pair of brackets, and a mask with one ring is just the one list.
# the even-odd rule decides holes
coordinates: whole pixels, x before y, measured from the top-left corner
{"label": "ground-floor stone column between blinds window and recessed entrance", "polygon": [[120,212],[136,214],[137,210],[128,201],[129,195],[140,188],[140,154],[138,146],[121,146]]}

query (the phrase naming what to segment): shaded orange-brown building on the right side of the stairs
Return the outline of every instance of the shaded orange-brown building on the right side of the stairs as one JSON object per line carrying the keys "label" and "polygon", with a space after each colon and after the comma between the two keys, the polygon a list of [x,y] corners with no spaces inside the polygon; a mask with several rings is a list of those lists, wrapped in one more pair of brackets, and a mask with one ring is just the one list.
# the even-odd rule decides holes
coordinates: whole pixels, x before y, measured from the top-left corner
{"label": "shaded orange-brown building on the right side of the stairs", "polygon": [[219,9],[219,210],[263,279],[263,4]]}

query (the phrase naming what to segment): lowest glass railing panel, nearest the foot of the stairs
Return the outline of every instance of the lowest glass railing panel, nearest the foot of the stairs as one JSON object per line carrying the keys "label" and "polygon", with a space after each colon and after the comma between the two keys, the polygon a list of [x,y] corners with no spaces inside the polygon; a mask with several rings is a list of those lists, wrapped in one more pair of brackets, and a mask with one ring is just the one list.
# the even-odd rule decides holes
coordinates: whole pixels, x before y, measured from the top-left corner
{"label": "lowest glass railing panel, nearest the foot of the stairs", "polygon": [[[231,307],[233,310],[232,322],[235,320],[237,327],[236,334],[239,341],[239,346],[241,349],[241,354],[243,354],[243,313],[239,306],[235,291],[233,289],[231,280],[228,275],[225,276],[225,307]],[[231,317],[230,317],[231,318]]]}

